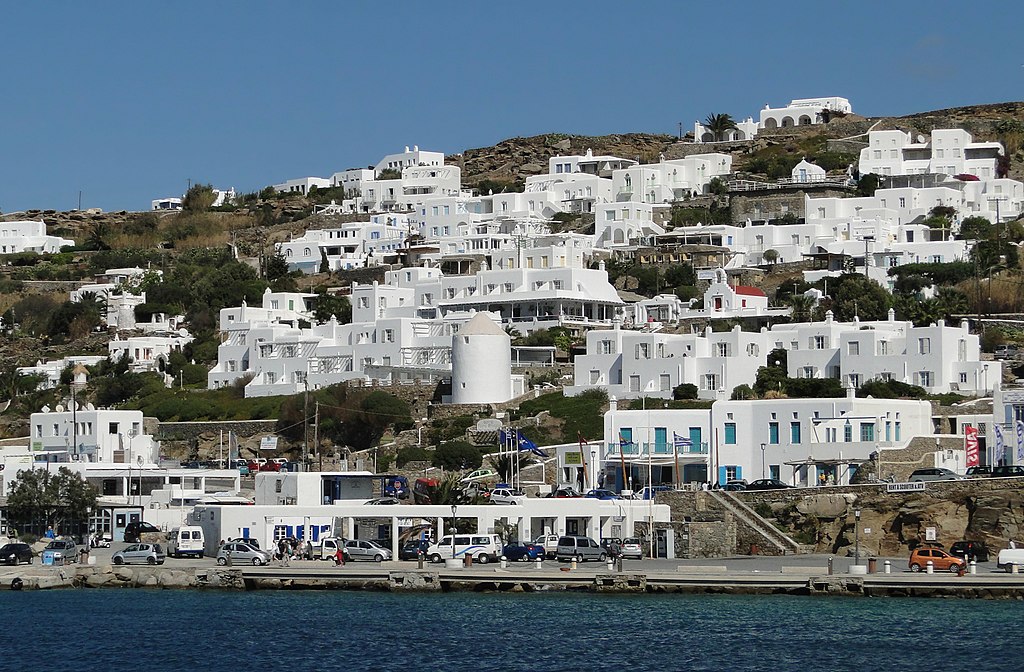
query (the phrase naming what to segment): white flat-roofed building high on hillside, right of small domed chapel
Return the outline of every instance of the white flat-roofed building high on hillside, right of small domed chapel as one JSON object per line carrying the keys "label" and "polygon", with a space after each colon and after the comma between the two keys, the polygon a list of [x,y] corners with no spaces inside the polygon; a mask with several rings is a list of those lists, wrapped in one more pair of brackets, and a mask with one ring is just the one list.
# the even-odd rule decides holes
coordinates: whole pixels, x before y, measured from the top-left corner
{"label": "white flat-roofed building high on hillside, right of small domed chapel", "polygon": [[913,175],[944,173],[997,177],[996,164],[1004,155],[1000,142],[975,142],[962,128],[937,128],[930,136],[901,130],[871,131],[860,151],[861,174]]}

